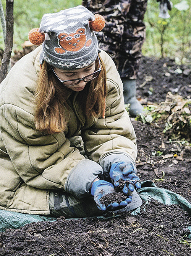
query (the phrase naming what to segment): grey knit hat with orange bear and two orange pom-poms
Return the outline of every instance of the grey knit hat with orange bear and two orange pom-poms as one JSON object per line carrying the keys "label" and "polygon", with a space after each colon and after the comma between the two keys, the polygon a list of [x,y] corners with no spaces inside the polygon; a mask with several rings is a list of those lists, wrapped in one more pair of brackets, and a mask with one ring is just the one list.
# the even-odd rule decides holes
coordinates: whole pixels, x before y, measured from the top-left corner
{"label": "grey knit hat with orange bear and two orange pom-poms", "polygon": [[[95,16],[81,5],[42,17],[40,28],[29,32],[34,45],[42,45],[40,64],[64,70],[89,66],[98,55],[98,42],[94,31],[105,26],[104,18]],[[94,30],[94,31],[93,31]]]}

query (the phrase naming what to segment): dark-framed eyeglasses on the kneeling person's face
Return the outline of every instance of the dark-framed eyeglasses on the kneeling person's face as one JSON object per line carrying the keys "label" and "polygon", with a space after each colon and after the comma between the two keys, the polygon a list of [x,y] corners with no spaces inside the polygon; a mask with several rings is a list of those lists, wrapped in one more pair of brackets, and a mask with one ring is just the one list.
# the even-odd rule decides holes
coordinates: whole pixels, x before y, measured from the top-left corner
{"label": "dark-framed eyeglasses on the kneeling person's face", "polygon": [[102,71],[102,68],[101,68],[101,64],[100,64],[100,59],[99,59],[99,56],[97,56],[98,58],[98,61],[99,61],[99,69],[97,71],[95,71],[94,73],[91,73],[87,76],[84,76],[83,78],[78,78],[78,79],[70,79],[70,80],[61,80],[56,72],[54,71],[53,67],[50,66],[50,68],[52,69],[53,73],[55,74],[55,76],[58,78],[58,80],[60,81],[60,83],[62,83],[64,86],[73,86],[73,85],[76,85],[76,84],[79,84],[81,81],[84,81],[84,82],[89,82],[95,78],[97,78],[100,74],[100,72]]}

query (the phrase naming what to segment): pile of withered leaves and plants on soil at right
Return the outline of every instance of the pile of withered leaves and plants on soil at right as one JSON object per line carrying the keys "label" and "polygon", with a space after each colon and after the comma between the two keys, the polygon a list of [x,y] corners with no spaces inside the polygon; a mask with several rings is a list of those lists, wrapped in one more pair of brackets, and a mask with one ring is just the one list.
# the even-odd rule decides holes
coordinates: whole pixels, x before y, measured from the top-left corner
{"label": "pile of withered leaves and plants on soil at right", "polygon": [[[163,127],[163,132],[175,140],[191,140],[191,100],[180,95],[167,93],[164,102],[159,105],[148,105],[136,120],[146,123],[157,123]],[[165,127],[164,127],[165,126]],[[159,155],[159,152],[156,152]]]}

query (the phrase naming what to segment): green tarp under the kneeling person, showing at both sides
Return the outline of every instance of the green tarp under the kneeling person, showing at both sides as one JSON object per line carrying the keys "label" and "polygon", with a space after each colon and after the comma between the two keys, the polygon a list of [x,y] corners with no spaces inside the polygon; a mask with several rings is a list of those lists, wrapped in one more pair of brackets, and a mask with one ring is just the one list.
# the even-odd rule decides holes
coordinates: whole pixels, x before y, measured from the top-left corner
{"label": "green tarp under the kneeling person, showing at both sides", "polygon": [[[164,203],[166,205],[177,204],[180,205],[185,211],[189,213],[191,216],[191,203],[187,201],[185,198],[181,197],[180,195],[166,190],[164,188],[158,188],[155,183],[151,181],[142,182],[141,188],[137,191],[142,198],[142,200],[149,203],[151,198],[159,201],[160,203]],[[144,207],[144,206],[143,206]],[[140,208],[136,209],[132,212],[132,214],[139,213]],[[13,211],[5,211],[0,210],[0,231],[6,231],[8,228],[20,228],[31,222],[37,221],[55,221],[56,218],[50,216],[41,216],[41,215],[31,215],[31,214],[24,214],[24,213],[17,213]],[[188,227],[191,231],[191,226]],[[190,236],[191,238],[191,236]]]}

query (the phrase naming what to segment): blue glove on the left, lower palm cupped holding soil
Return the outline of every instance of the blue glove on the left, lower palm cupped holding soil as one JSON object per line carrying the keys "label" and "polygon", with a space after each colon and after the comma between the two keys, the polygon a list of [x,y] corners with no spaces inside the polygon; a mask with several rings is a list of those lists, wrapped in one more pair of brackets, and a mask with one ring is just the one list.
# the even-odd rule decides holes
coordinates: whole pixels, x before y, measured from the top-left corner
{"label": "blue glove on the left, lower palm cupped holding soil", "polygon": [[125,201],[113,202],[110,203],[110,205],[106,206],[104,203],[100,201],[100,199],[109,193],[116,192],[116,190],[113,187],[113,184],[110,182],[107,182],[105,180],[97,180],[93,183],[91,188],[91,195],[94,197],[94,201],[97,205],[97,208],[101,211],[109,210],[114,211],[121,208],[124,208],[128,205],[128,203],[131,203],[132,197],[127,197]]}

